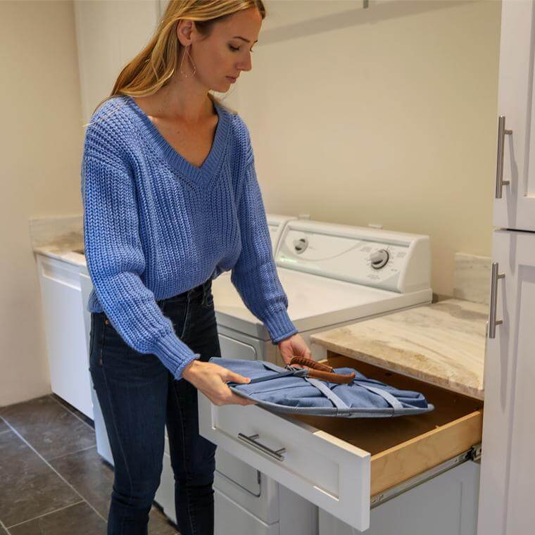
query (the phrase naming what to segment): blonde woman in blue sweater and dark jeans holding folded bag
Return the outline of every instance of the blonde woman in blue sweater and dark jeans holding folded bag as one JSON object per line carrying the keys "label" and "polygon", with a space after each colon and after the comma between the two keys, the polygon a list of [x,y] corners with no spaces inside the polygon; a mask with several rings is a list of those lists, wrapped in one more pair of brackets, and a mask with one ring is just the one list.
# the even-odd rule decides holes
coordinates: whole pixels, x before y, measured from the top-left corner
{"label": "blonde woman in blue sweater and dark jeans holding folded bag", "polygon": [[[220,356],[211,280],[232,270],[286,362],[310,356],[287,314],[247,127],[208,91],[251,70],[260,0],[171,1],[120,73],[84,142],[82,199],[94,290],[90,370],[115,464],[108,534],[146,534],[167,425],[182,535],[213,533],[215,446],[197,389],[249,402]],[[232,355],[227,355],[232,357]]]}

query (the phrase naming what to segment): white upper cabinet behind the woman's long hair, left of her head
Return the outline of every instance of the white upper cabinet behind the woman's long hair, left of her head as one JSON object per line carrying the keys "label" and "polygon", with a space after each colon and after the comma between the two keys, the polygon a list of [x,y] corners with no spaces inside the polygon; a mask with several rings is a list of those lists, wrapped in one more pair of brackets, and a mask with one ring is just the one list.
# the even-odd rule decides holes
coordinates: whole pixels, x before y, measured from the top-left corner
{"label": "white upper cabinet behind the woman's long hair, left of her head", "polygon": [[156,0],[75,1],[84,124],[96,105],[111,93],[127,61],[149,42],[159,15]]}

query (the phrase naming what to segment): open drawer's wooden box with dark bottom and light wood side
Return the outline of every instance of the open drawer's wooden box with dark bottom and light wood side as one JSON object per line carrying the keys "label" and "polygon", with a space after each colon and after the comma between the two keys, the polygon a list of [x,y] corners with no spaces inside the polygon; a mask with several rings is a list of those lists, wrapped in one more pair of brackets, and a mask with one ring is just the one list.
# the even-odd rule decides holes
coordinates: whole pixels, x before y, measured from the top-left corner
{"label": "open drawer's wooden box with dark bottom and light wood side", "polygon": [[429,470],[481,441],[483,402],[412,377],[328,352],[332,367],[353,367],[370,379],[420,391],[434,410],[394,418],[291,415],[371,454],[370,496]]}

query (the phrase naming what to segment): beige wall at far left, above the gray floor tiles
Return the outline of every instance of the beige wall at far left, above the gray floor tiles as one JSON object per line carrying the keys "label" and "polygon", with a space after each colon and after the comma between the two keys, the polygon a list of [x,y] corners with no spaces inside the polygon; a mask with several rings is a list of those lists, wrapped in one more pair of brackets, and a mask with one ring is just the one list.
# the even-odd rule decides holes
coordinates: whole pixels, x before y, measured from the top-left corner
{"label": "beige wall at far left, above the gray floor tiles", "polygon": [[73,4],[0,1],[0,406],[50,392],[28,220],[80,213]]}

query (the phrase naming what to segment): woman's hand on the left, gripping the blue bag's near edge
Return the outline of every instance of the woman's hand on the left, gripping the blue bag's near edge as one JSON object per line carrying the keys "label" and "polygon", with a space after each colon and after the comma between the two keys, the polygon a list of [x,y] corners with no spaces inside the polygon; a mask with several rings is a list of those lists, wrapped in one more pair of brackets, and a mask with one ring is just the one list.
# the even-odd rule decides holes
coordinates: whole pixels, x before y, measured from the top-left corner
{"label": "woman's hand on the left, gripping the blue bag's near edge", "polygon": [[255,405],[256,402],[242,398],[229,389],[225,382],[248,383],[248,377],[231,372],[214,363],[192,360],[182,371],[182,377],[200,390],[214,405]]}

